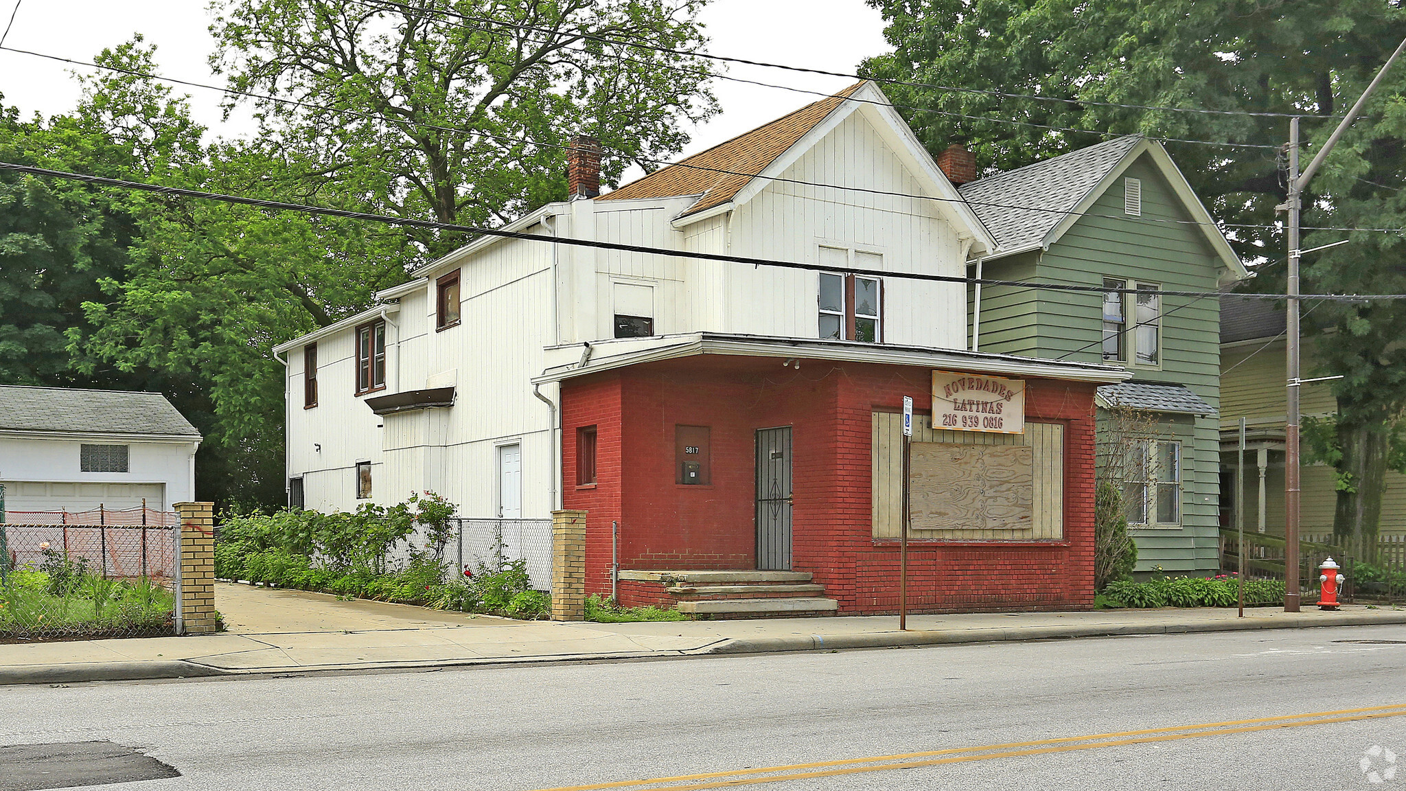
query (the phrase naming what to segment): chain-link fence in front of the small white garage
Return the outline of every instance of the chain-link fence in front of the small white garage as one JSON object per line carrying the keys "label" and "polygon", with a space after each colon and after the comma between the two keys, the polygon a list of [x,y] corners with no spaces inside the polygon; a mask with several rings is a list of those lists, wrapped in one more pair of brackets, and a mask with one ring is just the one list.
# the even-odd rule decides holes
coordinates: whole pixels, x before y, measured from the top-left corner
{"label": "chain-link fence in front of the small white garage", "polygon": [[0,642],[173,633],[179,542],[166,525],[0,524]]}

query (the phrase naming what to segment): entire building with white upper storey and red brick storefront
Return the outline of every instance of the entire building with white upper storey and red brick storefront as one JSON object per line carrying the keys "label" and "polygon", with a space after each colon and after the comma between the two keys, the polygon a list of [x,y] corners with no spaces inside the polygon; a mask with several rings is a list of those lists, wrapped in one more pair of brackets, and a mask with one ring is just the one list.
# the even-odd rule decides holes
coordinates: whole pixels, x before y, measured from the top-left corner
{"label": "entire building with white upper storey and red brick storefront", "polygon": [[[1094,388],[1128,374],[965,349],[966,263],[997,245],[873,83],[603,196],[599,158],[576,138],[572,200],[506,227],[536,238],[479,238],[274,349],[292,505],[581,510],[588,593],[662,602],[650,570],[749,569],[801,601],[707,612],[886,611],[910,396],[914,457],[941,467],[914,473],[915,538],[943,548],[921,608],[1092,604]],[[936,569],[991,586],[953,598]]]}

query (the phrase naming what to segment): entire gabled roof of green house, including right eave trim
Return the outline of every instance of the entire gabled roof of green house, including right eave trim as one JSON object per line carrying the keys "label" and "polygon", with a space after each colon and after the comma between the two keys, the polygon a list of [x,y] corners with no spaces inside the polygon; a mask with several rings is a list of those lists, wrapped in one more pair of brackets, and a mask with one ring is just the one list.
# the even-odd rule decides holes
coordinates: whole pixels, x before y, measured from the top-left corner
{"label": "entire gabled roof of green house, including right eave trim", "polygon": [[1211,213],[1167,155],[1167,149],[1142,135],[1126,135],[1071,151],[970,182],[957,191],[995,236],[1001,246],[1000,255],[1049,248],[1078,222],[1104,190],[1143,153],[1150,156],[1181,198],[1187,214],[1205,235],[1226,270],[1236,279],[1249,277],[1240,256],[1220,234]]}

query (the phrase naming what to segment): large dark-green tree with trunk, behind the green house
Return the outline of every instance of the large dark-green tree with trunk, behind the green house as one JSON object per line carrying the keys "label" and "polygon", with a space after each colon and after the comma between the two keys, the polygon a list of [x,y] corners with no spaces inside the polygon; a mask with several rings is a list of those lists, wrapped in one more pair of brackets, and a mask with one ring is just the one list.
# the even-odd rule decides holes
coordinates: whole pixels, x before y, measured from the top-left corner
{"label": "large dark-green tree with trunk, behind the green house", "polygon": [[[1305,156],[1312,156],[1313,144],[1337,124],[1330,115],[1357,99],[1406,37],[1402,0],[869,3],[889,20],[894,51],[866,61],[865,73],[1043,97],[886,86],[931,151],[963,142],[983,167],[1001,170],[1105,139],[1052,127],[1249,145],[1286,139],[1285,118],[1240,111],[1312,115],[1302,128]],[[1406,66],[1398,65],[1310,184],[1305,225],[1406,227],[1403,89]],[[1236,224],[1227,229],[1240,255],[1264,262],[1254,287],[1282,289],[1281,232],[1243,227],[1277,221],[1275,205],[1285,198],[1282,153],[1184,142],[1167,148],[1212,214]],[[1305,262],[1305,291],[1406,293],[1402,234],[1309,231],[1302,246],[1344,236],[1353,243]],[[1322,304],[1306,312],[1324,350],[1320,373],[1346,377],[1334,388],[1337,470],[1348,486],[1339,491],[1334,532],[1375,535],[1388,436],[1406,408],[1406,355],[1399,352],[1406,305]]]}

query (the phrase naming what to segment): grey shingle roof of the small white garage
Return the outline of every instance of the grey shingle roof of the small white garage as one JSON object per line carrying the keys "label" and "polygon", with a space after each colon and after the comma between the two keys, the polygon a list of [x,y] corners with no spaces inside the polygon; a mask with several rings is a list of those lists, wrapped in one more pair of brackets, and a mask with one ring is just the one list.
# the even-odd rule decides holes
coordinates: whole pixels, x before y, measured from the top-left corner
{"label": "grey shingle roof of the small white garage", "polygon": [[200,439],[160,393],[0,386],[0,431],[148,434]]}

